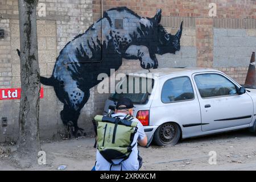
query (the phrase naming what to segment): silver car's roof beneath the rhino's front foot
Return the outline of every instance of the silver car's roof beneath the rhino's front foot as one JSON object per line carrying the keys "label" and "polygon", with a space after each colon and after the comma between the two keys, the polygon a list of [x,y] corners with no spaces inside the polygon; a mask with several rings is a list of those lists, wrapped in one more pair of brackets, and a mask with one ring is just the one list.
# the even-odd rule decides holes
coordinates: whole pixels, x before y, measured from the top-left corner
{"label": "silver car's roof beneath the rhino's front foot", "polygon": [[[138,72],[134,73],[158,73],[158,77],[160,76],[165,76],[165,75],[170,75],[172,73],[178,73],[178,72],[204,72],[204,71],[216,71],[215,69],[210,69],[210,68],[196,68],[196,67],[177,67],[177,68],[157,68],[157,69],[150,69],[148,72],[147,69],[143,69]],[[133,73],[130,73],[133,74]],[[128,74],[129,75],[129,74]]]}

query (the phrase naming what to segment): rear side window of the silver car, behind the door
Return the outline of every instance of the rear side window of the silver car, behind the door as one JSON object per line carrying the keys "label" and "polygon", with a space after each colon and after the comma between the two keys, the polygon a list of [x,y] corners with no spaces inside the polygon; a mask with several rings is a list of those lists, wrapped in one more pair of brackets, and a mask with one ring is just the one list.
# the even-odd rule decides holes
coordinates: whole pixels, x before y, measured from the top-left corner
{"label": "rear side window of the silver car, behind the door", "polygon": [[162,88],[163,103],[192,100],[194,92],[189,77],[177,77],[167,80]]}

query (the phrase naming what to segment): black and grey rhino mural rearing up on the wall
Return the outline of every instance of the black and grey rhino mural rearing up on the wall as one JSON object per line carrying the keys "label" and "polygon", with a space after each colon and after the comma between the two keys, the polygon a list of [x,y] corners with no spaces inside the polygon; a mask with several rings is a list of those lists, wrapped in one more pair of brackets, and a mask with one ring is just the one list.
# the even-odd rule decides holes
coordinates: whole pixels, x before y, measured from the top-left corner
{"label": "black and grey rhino mural rearing up on the wall", "polygon": [[89,89],[100,82],[100,73],[110,76],[110,69],[117,70],[122,58],[138,59],[144,69],[157,68],[155,54],[180,50],[182,22],[177,34],[171,35],[159,24],[160,19],[161,10],[153,18],[143,18],[126,7],[113,8],[60,51],[52,76],[40,80],[54,87],[64,104],[61,119],[65,126],[73,127],[73,135],[85,135],[77,120],[89,99]]}

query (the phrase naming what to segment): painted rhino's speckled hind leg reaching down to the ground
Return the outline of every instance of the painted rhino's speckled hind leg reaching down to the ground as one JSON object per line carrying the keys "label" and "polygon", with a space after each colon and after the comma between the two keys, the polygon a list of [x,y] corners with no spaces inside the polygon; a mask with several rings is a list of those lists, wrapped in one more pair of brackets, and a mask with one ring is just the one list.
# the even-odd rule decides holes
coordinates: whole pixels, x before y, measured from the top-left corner
{"label": "painted rhino's speckled hind leg reaching down to the ground", "polygon": [[79,89],[75,80],[69,79],[68,83],[65,84],[64,93],[65,102],[64,108],[60,113],[61,119],[69,135],[74,135],[75,137],[85,136],[84,129],[77,125],[77,121],[82,107],[84,107],[89,99],[89,89],[87,92],[84,92]]}

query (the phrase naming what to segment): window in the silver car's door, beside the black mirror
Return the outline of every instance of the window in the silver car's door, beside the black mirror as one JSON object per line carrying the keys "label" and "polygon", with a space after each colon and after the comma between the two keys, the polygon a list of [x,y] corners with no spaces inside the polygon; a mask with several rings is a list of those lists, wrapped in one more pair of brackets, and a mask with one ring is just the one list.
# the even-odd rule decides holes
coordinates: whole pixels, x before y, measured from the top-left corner
{"label": "window in the silver car's door, beside the black mirror", "polygon": [[196,75],[195,81],[202,98],[237,94],[236,85],[222,75],[214,73]]}

